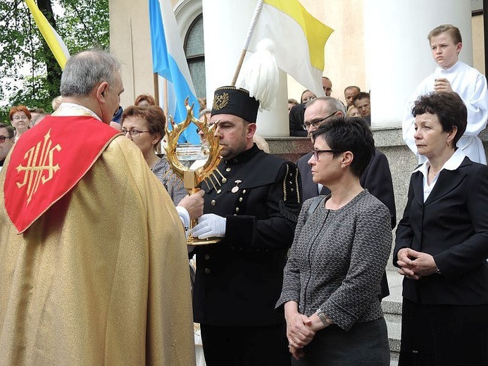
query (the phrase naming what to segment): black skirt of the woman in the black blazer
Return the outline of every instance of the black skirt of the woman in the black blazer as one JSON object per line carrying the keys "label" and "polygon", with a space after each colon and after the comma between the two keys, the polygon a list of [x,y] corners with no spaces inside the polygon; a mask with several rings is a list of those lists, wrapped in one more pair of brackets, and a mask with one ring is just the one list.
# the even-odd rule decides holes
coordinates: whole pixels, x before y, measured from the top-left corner
{"label": "black skirt of the woman in the black blazer", "polygon": [[399,366],[488,365],[488,305],[403,298]]}

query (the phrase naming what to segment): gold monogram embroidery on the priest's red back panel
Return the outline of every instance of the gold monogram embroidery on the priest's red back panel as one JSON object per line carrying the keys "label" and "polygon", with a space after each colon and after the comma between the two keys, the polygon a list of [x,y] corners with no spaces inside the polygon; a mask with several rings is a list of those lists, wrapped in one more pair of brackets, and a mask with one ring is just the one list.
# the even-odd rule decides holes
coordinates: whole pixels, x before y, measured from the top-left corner
{"label": "gold monogram embroidery on the priest's red back panel", "polygon": [[[25,166],[19,164],[16,168],[17,172],[25,172],[23,182],[16,182],[16,184],[18,188],[27,184],[27,205],[37,192],[39,184],[49,182],[54,177],[54,173],[60,169],[58,163],[54,165],[54,151],[61,151],[61,145],[57,144],[51,149],[52,144],[51,130],[49,130],[44,136],[44,143],[39,141],[25,153],[24,158],[27,160],[27,164]],[[44,172],[47,172],[47,175]]]}

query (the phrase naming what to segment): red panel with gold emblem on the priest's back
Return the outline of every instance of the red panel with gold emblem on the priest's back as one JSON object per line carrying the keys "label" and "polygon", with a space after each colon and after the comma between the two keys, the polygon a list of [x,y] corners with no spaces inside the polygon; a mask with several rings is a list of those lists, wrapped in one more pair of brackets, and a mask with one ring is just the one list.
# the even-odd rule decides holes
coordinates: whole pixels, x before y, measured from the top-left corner
{"label": "red panel with gold emblem on the priest's back", "polygon": [[15,142],[4,198],[19,234],[75,187],[118,133],[86,115],[49,116]]}

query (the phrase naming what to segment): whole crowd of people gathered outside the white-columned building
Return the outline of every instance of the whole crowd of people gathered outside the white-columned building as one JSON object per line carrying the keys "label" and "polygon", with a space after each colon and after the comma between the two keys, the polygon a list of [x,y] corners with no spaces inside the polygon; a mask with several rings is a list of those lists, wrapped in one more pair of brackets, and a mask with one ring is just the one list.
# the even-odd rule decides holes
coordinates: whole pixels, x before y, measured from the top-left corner
{"label": "whole crowd of people gathered outside the white-columned building", "polygon": [[359,87],[342,102],[323,77],[323,96],[289,99],[312,146],[296,164],[264,151],[260,102],[219,87],[198,116],[218,174],[187,194],[154,98],[121,108],[118,61],[72,56],[54,113],[15,106],[0,124],[0,365],[195,365],[196,322],[208,366],[387,366],[392,243],[399,365],[488,365],[487,84],[456,27],[428,39],[439,68],[408,101],[420,165],[398,226]]}

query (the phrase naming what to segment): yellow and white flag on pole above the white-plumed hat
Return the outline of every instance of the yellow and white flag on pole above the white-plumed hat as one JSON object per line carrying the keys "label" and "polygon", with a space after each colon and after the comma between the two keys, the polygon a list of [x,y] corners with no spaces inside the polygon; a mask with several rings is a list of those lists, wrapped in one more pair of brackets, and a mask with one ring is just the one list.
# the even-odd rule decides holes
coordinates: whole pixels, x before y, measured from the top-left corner
{"label": "yellow and white flag on pole above the white-plumed hat", "polygon": [[334,30],[313,18],[298,0],[260,0],[256,9],[259,6],[246,49],[254,52],[261,40],[270,39],[277,66],[315,95],[324,95],[324,47]]}

